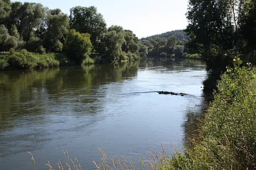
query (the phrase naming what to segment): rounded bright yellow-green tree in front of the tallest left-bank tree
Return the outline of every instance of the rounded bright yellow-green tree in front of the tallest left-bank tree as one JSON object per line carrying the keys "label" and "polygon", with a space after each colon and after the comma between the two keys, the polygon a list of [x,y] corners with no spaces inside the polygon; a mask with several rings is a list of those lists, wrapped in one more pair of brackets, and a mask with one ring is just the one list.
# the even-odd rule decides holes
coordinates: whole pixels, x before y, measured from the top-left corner
{"label": "rounded bright yellow-green tree in front of the tallest left-bank tree", "polygon": [[89,57],[92,50],[90,34],[78,33],[74,29],[70,30],[64,49],[70,61],[75,62],[75,64],[82,64],[82,60]]}

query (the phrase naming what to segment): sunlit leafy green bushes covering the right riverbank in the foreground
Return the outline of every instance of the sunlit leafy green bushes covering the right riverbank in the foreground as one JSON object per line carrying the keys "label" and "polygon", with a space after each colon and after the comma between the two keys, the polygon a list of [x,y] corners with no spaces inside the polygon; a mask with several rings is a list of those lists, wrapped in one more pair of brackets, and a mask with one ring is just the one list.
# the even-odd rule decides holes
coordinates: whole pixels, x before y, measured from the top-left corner
{"label": "sunlit leafy green bushes covering the right riverbank in the foreground", "polygon": [[218,82],[218,93],[201,120],[199,142],[184,154],[177,152],[161,162],[161,169],[256,168],[256,69],[227,68]]}

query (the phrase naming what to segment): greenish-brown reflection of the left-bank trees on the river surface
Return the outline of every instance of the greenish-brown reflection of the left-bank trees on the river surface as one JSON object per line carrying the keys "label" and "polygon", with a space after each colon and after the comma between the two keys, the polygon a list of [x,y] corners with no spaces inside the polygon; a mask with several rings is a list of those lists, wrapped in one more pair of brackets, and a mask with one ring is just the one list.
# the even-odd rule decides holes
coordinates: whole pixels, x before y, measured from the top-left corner
{"label": "greenish-brown reflection of the left-bank trees on the river surface", "polygon": [[100,86],[131,79],[137,75],[138,67],[139,62],[124,62],[0,72],[1,130],[12,128],[11,121],[23,115],[33,115],[36,120],[36,115],[55,111],[50,107],[58,104],[71,102],[76,111],[85,112],[87,106],[96,113],[101,107],[97,101],[105,96]]}

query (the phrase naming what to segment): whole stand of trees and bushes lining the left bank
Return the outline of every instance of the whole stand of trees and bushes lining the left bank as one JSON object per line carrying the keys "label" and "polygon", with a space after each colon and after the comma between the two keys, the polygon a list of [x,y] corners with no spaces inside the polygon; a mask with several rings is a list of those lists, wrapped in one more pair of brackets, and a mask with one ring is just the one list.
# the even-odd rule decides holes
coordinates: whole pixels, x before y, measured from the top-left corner
{"label": "whole stand of trees and bushes lining the left bank", "polygon": [[0,69],[139,60],[147,53],[132,30],[107,28],[95,6],[75,6],[69,16],[38,3],[0,6]]}

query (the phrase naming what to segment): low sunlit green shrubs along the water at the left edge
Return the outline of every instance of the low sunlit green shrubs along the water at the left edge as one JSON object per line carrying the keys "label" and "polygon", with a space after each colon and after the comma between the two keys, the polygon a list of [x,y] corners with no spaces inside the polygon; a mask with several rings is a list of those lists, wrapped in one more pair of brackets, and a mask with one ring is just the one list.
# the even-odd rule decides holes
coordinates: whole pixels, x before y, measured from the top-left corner
{"label": "low sunlit green shrubs along the water at the left edge", "polygon": [[27,50],[0,52],[0,70],[58,67],[59,64],[53,53],[41,55]]}

